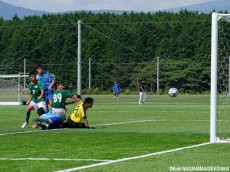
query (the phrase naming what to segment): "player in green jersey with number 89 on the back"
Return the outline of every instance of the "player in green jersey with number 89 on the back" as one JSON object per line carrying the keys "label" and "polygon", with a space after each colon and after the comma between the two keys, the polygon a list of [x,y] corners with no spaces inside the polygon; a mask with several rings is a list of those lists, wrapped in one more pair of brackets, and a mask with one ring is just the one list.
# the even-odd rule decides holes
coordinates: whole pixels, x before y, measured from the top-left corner
{"label": "player in green jersey with number 89 on the back", "polygon": [[[60,82],[54,84],[55,92],[53,94],[52,114],[58,115],[62,121],[66,120],[65,105],[73,104],[81,100],[80,95],[73,95],[69,90],[63,90],[64,86]],[[66,103],[67,98],[72,98],[73,101]]]}

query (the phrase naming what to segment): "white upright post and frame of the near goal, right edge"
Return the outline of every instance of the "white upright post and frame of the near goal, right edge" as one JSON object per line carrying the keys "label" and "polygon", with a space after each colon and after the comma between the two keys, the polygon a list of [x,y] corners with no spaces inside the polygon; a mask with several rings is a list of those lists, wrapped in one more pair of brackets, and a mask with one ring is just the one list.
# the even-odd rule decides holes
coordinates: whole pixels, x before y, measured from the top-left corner
{"label": "white upright post and frame of the near goal, right edge", "polygon": [[[226,70],[224,72],[220,72],[218,62],[220,61],[220,58],[225,58],[225,61],[222,61],[222,64],[228,64],[227,58],[228,55],[221,54],[219,53],[219,21],[220,20],[226,20],[226,22],[230,22],[230,14],[219,14],[216,12],[212,13],[212,31],[211,31],[211,96],[210,96],[210,142],[211,143],[216,143],[216,142],[229,142],[229,141],[221,141],[218,138],[217,135],[217,129],[218,129],[218,124],[217,124],[217,117],[218,117],[218,94],[228,94],[227,96],[229,97],[229,85],[226,84],[227,80],[229,80],[229,74],[226,74]],[[230,41],[230,40],[229,40]],[[228,47],[228,45],[226,45]],[[230,52],[229,49],[225,50],[227,51],[226,54],[229,54]],[[222,57],[224,56],[224,57]],[[223,67],[222,67],[223,68]],[[224,68],[226,69],[226,67]],[[223,70],[224,70],[223,69]],[[229,70],[229,69],[228,69]],[[229,72],[229,71],[228,71]],[[225,78],[221,78],[219,76],[219,73],[221,73],[222,76],[225,76]],[[218,79],[221,78],[223,81],[220,84]],[[229,83],[229,81],[228,81]],[[219,85],[218,85],[219,84]],[[220,93],[218,93],[218,87],[221,89]],[[222,87],[224,89],[222,90]]]}

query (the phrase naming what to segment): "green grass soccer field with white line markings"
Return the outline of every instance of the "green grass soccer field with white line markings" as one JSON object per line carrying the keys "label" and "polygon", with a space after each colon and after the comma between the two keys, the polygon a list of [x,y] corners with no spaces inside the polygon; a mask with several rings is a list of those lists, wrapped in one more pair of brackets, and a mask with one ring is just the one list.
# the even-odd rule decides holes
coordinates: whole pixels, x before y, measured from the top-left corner
{"label": "green grass soccer field with white line markings", "polygon": [[[95,103],[87,115],[95,129],[34,130],[35,111],[21,129],[26,106],[0,106],[0,171],[230,168],[230,144],[208,143],[208,95],[151,95],[144,105],[138,105],[137,95],[92,97]],[[67,116],[74,107],[67,107]],[[223,119],[229,136],[230,117]]]}

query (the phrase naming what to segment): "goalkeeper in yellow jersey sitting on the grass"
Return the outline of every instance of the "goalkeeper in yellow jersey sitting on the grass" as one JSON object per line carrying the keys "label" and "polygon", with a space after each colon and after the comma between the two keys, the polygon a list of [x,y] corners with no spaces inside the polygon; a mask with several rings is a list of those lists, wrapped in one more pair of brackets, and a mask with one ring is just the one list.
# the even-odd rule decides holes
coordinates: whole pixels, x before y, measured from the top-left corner
{"label": "goalkeeper in yellow jersey sitting on the grass", "polygon": [[[64,127],[68,128],[93,128],[89,127],[89,122],[86,116],[86,110],[92,108],[93,98],[85,98],[84,102],[79,101],[73,113],[69,116],[64,123]],[[84,121],[84,122],[82,122]]]}

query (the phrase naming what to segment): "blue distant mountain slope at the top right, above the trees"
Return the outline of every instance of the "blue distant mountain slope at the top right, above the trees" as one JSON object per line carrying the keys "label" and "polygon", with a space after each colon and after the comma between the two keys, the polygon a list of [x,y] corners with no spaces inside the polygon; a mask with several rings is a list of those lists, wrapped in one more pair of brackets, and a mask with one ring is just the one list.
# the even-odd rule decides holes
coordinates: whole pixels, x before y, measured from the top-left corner
{"label": "blue distant mountain slope at the top right, above the trees", "polygon": [[210,13],[212,11],[228,11],[230,12],[230,1],[229,0],[213,0],[210,2],[204,2],[195,5],[189,5],[179,8],[170,8],[165,11],[179,12],[181,9],[186,9],[188,11],[198,11],[200,13]]}

